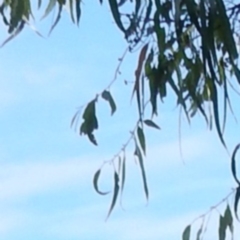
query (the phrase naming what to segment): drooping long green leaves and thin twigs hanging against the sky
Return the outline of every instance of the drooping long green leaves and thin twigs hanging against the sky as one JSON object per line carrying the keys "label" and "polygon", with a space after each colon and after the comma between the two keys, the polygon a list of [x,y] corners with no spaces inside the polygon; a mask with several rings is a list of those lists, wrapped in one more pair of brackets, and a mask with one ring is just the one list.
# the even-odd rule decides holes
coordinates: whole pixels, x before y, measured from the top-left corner
{"label": "drooping long green leaves and thin twigs hanging against the sky", "polygon": [[[239,12],[240,4],[224,0],[100,0],[108,3],[116,27],[128,43],[128,52],[141,49],[135,69],[133,96],[138,107],[138,120],[131,138],[111,160],[114,173],[113,198],[109,214],[114,208],[125,181],[125,149],[129,141],[135,142],[134,155],[139,161],[143,186],[148,198],[147,177],[144,168],[146,140],[144,125],[160,129],[153,121],[157,115],[158,104],[168,96],[171,89],[176,97],[176,105],[181,108],[188,121],[200,113],[209,128],[212,125],[218,133],[223,146],[227,148],[223,132],[228,109],[231,109],[229,88],[236,90],[240,84],[238,66],[239,51]],[[58,9],[50,32],[61,19],[64,7],[70,10],[74,23],[79,23],[83,8],[80,0],[49,0],[43,18],[53,9]],[[42,1],[38,0],[38,8]],[[31,25],[33,12],[30,0],[4,0],[0,6],[2,22],[7,26],[9,37],[2,46],[20,33],[26,25]],[[124,56],[120,61],[124,60]],[[117,69],[118,71],[119,69]],[[115,81],[115,80],[114,80]],[[79,133],[87,135],[97,145],[94,131],[98,129],[96,101],[107,101],[111,114],[117,110],[111,94],[111,82],[100,95],[91,100],[82,113]],[[147,92],[147,93],[146,93]],[[220,97],[223,96],[223,97]],[[145,110],[151,107],[152,116],[146,118]],[[223,115],[220,114],[223,109]],[[78,123],[81,111],[73,117],[72,124]],[[221,120],[223,119],[223,120]],[[236,174],[235,157],[239,145],[232,155],[232,174],[238,187],[235,191],[234,212],[240,198],[240,182]],[[119,162],[119,169],[114,162]],[[99,194],[99,169],[93,179],[94,188]],[[219,220],[219,239],[225,239],[226,230],[233,233],[233,216],[227,205]],[[183,232],[183,240],[190,239],[191,225]],[[201,225],[197,239],[203,234]]]}

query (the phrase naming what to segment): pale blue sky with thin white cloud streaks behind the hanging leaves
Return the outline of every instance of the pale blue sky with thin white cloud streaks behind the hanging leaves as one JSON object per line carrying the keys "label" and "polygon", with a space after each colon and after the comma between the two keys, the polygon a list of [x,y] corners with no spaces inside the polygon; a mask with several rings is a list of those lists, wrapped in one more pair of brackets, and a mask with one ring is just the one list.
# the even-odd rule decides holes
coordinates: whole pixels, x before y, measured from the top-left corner
{"label": "pale blue sky with thin white cloud streaks behind the hanging leaves", "polygon": [[[45,36],[51,20],[50,16],[35,23]],[[2,28],[0,39],[5,37]],[[88,1],[79,28],[65,13],[49,38],[40,38],[26,28],[1,49],[1,239],[180,239],[187,224],[235,186],[229,157],[216,132],[209,132],[201,117],[197,116],[191,126],[183,120],[183,163],[179,111],[170,97],[159,110],[157,121],[162,130],[149,129],[146,133],[148,204],[130,145],[124,210],[116,205],[105,222],[111,196],[98,196],[92,177],[104,160],[118,152],[134,126],[137,115],[130,102],[132,86],[126,86],[124,80],[134,80],[136,54],[127,56],[122,74],[111,88],[117,113],[111,117],[104,101],[97,105],[99,147],[78,136],[70,128],[70,121],[78,106],[113,79],[125,48],[107,5]],[[239,118],[238,105],[234,106]],[[229,116],[225,136],[232,150],[239,141],[240,129]],[[111,168],[106,167],[102,188],[111,188],[111,180]],[[217,211],[213,212],[209,239],[217,235],[217,216]]]}

